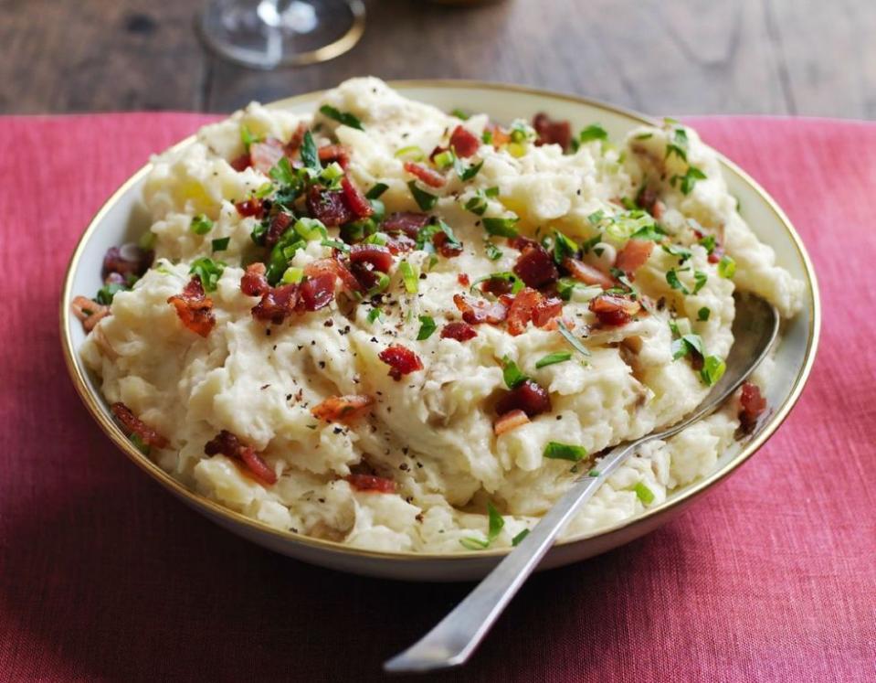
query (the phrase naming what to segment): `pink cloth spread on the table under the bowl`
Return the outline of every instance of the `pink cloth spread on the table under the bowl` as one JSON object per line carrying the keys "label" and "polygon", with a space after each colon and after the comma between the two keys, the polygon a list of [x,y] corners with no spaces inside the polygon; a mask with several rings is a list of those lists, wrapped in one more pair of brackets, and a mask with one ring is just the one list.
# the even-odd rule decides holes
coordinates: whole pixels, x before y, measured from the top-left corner
{"label": "pink cloth spread on the table under the bowl", "polygon": [[[149,481],[67,378],[58,295],[90,216],[209,117],[0,119],[0,678],[363,680],[469,590],[261,550]],[[527,583],[443,679],[876,679],[876,124],[691,119],[816,263],[818,362],[741,471],[665,527]]]}

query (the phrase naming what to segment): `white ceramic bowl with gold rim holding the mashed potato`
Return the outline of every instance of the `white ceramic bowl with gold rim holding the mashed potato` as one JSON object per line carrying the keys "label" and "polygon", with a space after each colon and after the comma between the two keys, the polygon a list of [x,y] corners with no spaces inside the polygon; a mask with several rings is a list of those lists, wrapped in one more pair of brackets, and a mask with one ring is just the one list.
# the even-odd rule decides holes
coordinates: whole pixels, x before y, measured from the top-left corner
{"label": "white ceramic bowl with gold rim holding the mashed potato", "polygon": [[[548,112],[554,118],[568,119],[574,128],[599,122],[612,139],[620,139],[631,127],[640,123],[653,123],[640,114],[598,102],[493,83],[401,81],[393,83],[393,86],[407,97],[426,101],[442,110],[450,111],[459,107],[473,112],[486,112],[500,122],[507,123],[517,117],[531,118],[536,112]],[[319,92],[311,92],[269,106],[294,112],[311,112],[320,96]],[[177,146],[190,142],[191,139],[187,139]],[[710,475],[672,491],[664,503],[637,517],[596,534],[557,544],[544,558],[541,569],[584,560],[610,550],[648,533],[679,514],[754,454],[785,420],[803,390],[818,347],[820,309],[815,272],[797,232],[776,202],[744,171],[723,157],[722,161],[727,184],[731,193],[739,197],[744,218],[758,237],[776,250],[779,263],[806,283],[803,310],[786,326],[776,353],[776,372],[772,384],[766,389],[766,398],[775,411],[754,438],[744,444],[735,443],[724,452]],[[107,249],[127,241],[136,241],[148,227],[148,216],[142,208],[140,197],[143,180],[150,168],[151,165],[144,165],[107,200],[91,220],[70,260],[61,296],[61,339],[67,366],[79,395],[100,428],[134,464],[187,505],[222,527],[284,555],[336,570],[409,581],[470,580],[490,571],[507,550],[448,555],[372,552],[270,528],[190,491],[142,455],[125,438],[100,396],[98,382],[79,358],[77,350],[85,335],[79,321],[69,314],[69,304],[78,293],[96,292],[100,288],[100,265]]]}

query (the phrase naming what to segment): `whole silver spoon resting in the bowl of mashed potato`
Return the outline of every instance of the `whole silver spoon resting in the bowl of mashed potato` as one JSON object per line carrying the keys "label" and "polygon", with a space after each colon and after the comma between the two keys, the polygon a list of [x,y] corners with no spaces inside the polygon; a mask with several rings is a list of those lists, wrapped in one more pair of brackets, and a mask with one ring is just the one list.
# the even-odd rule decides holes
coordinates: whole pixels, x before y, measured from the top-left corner
{"label": "whole silver spoon resting in the bowl of mashed potato", "polygon": [[778,334],[778,313],[763,299],[736,297],[734,345],[726,359],[723,378],[695,411],[683,421],[636,441],[621,443],[596,465],[597,475],[583,475],[468,597],[413,646],[384,663],[390,672],[431,671],[464,664],[480,645],[492,624],[520,590],[554,539],[596,489],[643,443],[665,439],[706,417],[737,390],[765,358]]}

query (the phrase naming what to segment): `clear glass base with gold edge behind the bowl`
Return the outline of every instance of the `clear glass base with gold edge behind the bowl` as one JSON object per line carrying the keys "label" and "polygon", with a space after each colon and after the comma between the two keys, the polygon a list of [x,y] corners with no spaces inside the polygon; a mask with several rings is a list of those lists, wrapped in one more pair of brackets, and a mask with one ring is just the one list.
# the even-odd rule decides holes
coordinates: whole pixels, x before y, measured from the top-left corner
{"label": "clear glass base with gold edge behind the bowl", "polygon": [[277,69],[343,55],[362,37],[364,19],[361,0],[209,0],[196,28],[217,57]]}

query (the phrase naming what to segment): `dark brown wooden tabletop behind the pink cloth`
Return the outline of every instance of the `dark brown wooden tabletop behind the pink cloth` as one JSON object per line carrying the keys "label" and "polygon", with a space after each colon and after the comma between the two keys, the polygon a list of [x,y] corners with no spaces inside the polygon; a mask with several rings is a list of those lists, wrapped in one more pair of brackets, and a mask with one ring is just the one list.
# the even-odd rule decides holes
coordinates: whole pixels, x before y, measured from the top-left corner
{"label": "dark brown wooden tabletop behind the pink cloth", "polygon": [[207,56],[195,0],[0,0],[0,112],[227,112],[354,75],[504,80],[643,112],[876,118],[873,0],[366,0],[331,62]]}

